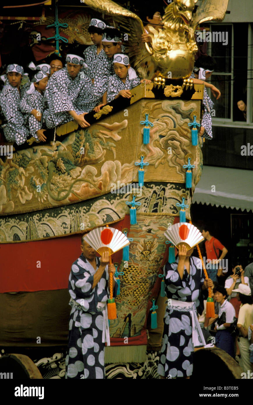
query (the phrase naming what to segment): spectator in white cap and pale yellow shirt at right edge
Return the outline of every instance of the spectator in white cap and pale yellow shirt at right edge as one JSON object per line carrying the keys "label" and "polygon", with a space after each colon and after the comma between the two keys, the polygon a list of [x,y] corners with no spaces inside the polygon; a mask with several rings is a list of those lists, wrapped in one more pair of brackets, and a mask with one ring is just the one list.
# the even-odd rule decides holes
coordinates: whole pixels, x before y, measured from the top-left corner
{"label": "spectator in white cap and pale yellow shirt at right edge", "polygon": [[245,284],[239,284],[238,288],[233,290],[233,292],[237,293],[237,299],[242,303],[237,321],[237,328],[240,333],[238,336],[238,345],[242,358],[242,369],[244,373],[247,373],[247,370],[251,369],[248,329],[253,323],[253,300],[251,297],[251,289]]}

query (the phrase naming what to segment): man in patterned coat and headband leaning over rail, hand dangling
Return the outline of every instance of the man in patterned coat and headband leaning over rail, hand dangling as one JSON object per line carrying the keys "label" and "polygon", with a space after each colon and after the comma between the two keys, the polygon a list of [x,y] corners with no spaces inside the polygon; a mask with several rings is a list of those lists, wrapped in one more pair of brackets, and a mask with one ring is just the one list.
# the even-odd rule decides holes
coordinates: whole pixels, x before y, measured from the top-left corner
{"label": "man in patterned coat and headband leaning over rail, hand dangling", "polygon": [[47,128],[75,119],[85,128],[89,123],[85,113],[95,107],[94,85],[82,71],[84,60],[78,51],[66,57],[67,67],[55,72],[45,90],[44,99],[48,109],[44,111]]}

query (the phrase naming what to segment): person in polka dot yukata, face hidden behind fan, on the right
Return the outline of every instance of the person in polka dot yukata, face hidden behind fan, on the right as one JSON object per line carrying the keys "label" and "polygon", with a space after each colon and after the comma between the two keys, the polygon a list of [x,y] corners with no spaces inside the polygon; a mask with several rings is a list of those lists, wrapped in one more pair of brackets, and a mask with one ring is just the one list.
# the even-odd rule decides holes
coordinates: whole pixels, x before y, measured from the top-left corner
{"label": "person in polka dot yukata, face hidden behind fan, on the right", "polygon": [[[179,234],[182,225],[176,224]],[[186,228],[186,225],[188,227],[189,224],[183,226]],[[195,228],[191,227],[191,230]],[[197,228],[195,230],[198,231]],[[168,234],[165,233],[167,237]],[[201,260],[191,256],[194,245],[191,247],[185,240],[172,242],[178,248],[178,258],[175,263],[164,266],[165,291],[169,299],[157,368],[161,378],[189,378],[193,369],[194,346],[206,345],[197,312],[203,312],[203,291],[212,286],[212,280],[204,278]]]}

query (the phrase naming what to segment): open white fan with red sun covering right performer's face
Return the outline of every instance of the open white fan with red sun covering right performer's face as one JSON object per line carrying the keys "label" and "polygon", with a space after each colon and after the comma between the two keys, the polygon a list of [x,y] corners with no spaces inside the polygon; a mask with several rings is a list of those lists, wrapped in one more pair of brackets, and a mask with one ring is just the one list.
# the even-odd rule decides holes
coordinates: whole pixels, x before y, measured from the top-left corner
{"label": "open white fan with red sun covering right performer's face", "polygon": [[187,250],[190,250],[192,247],[198,245],[198,243],[204,241],[198,228],[188,222],[179,222],[178,224],[172,225],[171,229],[164,232],[164,235],[176,247],[185,245]]}

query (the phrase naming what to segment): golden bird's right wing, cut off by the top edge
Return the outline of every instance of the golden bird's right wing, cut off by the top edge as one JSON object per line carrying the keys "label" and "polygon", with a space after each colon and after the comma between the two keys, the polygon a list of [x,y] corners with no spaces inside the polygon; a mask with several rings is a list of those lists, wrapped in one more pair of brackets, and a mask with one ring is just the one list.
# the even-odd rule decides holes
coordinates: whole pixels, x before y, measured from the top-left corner
{"label": "golden bird's right wing, cut off by the top edge", "polygon": [[222,21],[227,10],[228,0],[204,0],[198,6],[191,27],[196,28],[198,24],[205,21]]}

